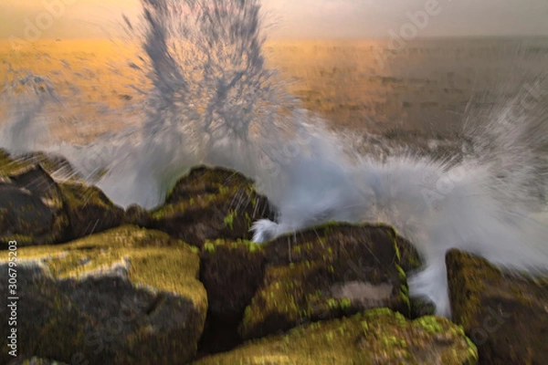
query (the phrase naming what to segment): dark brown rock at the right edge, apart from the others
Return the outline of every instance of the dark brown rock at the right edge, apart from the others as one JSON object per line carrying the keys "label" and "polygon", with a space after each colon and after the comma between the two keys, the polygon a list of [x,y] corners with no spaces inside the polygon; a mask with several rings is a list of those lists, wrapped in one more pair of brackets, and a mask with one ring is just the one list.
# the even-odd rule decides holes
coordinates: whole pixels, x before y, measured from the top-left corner
{"label": "dark brown rock at the right edge, apart from the others", "polygon": [[548,361],[548,280],[511,276],[479,257],[451,251],[448,282],[454,321],[481,364]]}

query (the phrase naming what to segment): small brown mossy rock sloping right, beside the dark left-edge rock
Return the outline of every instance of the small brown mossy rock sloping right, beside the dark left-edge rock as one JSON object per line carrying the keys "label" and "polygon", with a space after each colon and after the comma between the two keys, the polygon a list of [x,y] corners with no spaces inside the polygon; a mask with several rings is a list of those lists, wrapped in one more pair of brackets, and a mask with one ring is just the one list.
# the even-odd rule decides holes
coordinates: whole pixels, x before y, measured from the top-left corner
{"label": "small brown mossy rock sloping right, beside the dark left-edge rock", "polygon": [[123,209],[114,205],[99,188],[84,183],[58,186],[68,216],[64,241],[100,233],[123,223]]}

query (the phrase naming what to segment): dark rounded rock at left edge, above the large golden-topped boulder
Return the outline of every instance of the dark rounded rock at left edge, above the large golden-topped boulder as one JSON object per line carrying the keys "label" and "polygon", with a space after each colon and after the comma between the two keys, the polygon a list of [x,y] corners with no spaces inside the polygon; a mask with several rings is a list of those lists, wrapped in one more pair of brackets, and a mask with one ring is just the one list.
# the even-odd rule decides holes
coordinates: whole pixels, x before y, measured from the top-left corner
{"label": "dark rounded rock at left edge, above the large golden-topped boulder", "polygon": [[20,245],[48,245],[62,240],[68,228],[57,183],[40,165],[20,167],[0,181],[0,240]]}

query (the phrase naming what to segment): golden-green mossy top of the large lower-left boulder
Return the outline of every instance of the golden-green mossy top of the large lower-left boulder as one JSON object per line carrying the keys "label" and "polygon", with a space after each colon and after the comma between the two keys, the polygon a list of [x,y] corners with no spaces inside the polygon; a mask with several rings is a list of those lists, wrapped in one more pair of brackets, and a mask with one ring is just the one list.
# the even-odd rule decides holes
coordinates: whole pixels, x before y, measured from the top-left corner
{"label": "golden-green mossy top of the large lower-left boulder", "polygon": [[58,278],[80,278],[126,266],[136,286],[172,292],[192,298],[197,307],[206,306],[205,289],[197,281],[195,249],[161,232],[126,225],[66,245],[25,247],[18,250],[18,257],[42,261]]}

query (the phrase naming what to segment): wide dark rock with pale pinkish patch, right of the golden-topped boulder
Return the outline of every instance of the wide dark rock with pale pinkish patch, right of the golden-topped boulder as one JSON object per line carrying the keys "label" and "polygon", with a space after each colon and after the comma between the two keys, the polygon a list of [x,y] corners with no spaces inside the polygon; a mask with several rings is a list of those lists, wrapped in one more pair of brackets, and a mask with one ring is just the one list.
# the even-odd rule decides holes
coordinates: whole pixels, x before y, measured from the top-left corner
{"label": "wide dark rock with pale pinkish patch, right of the golden-topped boulder", "polygon": [[207,242],[201,280],[210,318],[233,327],[239,322],[239,332],[226,336],[234,340],[368,308],[393,308],[409,316],[400,246],[411,255],[392,228],[349,224],[325,224],[267,245]]}

